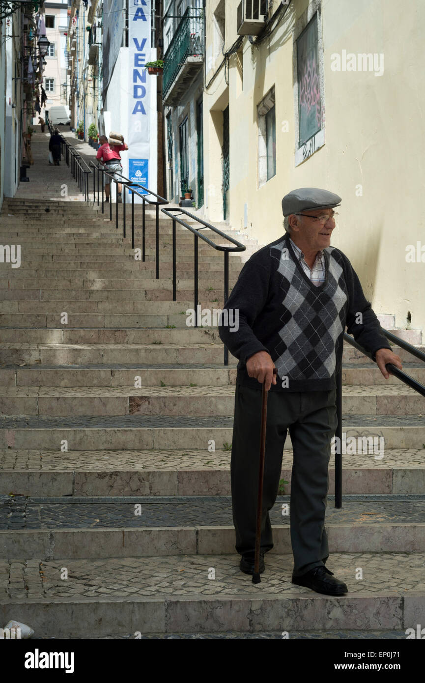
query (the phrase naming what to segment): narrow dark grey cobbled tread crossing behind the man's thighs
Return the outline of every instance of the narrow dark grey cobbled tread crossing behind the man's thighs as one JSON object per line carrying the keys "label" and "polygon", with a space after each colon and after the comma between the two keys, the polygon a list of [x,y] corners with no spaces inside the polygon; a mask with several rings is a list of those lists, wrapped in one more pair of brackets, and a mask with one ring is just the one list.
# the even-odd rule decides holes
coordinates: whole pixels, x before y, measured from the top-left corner
{"label": "narrow dark grey cobbled tread crossing behind the man's thighs", "polygon": [[[111,415],[106,417],[34,417],[0,415],[2,429],[124,429],[124,428],[232,428],[233,417],[182,417],[169,415]],[[422,415],[342,415],[342,427],[424,427]]]}

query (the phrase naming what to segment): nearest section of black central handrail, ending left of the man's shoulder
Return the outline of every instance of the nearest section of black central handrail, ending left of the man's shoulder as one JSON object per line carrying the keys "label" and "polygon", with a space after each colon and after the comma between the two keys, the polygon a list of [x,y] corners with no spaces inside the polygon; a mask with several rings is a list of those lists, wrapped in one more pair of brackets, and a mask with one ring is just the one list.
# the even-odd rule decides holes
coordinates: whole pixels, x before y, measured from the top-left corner
{"label": "nearest section of black central handrail, ending left of the man's shoulder", "polygon": [[[173,301],[176,301],[177,298],[177,292],[176,292],[176,221],[180,223],[183,227],[187,227],[188,230],[193,233],[194,236],[194,242],[193,242],[193,276],[194,276],[194,292],[193,292],[193,298],[194,298],[194,311],[195,311],[195,321],[196,321],[196,327],[199,327],[199,319],[198,319],[198,238],[201,238],[204,240],[204,242],[207,242],[210,247],[213,247],[217,251],[223,251],[224,252],[224,303],[228,300],[229,297],[229,252],[230,251],[245,251],[247,247],[245,245],[241,244],[241,242],[238,242],[238,240],[235,240],[233,237],[230,237],[225,234],[225,232],[222,232],[221,230],[218,229],[218,227],[215,227],[215,225],[211,225],[211,223],[208,223],[207,221],[204,221],[203,219],[195,216],[195,214],[187,211],[184,208],[177,208],[177,207],[169,207],[169,209],[161,209],[165,215],[167,215],[169,218],[172,219],[173,221]],[[202,227],[200,228],[195,228],[189,223],[186,223],[186,221],[182,221],[181,219],[178,219],[176,216],[174,216],[171,212],[180,212],[184,213],[187,216],[189,216],[191,219],[195,219],[197,223],[202,223]],[[208,229],[213,230],[217,235],[225,238],[225,240],[228,240],[229,242],[232,242],[232,244],[236,245],[236,247],[227,247],[225,245],[216,245],[213,240],[210,240],[208,237],[202,234],[200,230],[204,229],[204,227],[208,227]],[[229,365],[229,350],[228,347],[224,345],[224,365]]]}

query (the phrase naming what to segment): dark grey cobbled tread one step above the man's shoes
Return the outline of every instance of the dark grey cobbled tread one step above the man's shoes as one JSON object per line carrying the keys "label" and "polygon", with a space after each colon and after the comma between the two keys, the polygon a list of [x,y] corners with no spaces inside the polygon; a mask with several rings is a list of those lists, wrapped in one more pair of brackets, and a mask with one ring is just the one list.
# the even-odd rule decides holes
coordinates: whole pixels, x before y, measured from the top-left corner
{"label": "dark grey cobbled tread one step above the man's shoes", "polygon": [[[329,497],[330,498],[330,497]],[[344,497],[342,508],[328,499],[326,523],[423,524],[425,494]],[[278,496],[270,512],[273,525],[289,525]],[[141,505],[141,514],[135,514]],[[139,511],[137,509],[137,511]],[[230,496],[25,498],[0,497],[0,529],[92,529],[233,526]]]}

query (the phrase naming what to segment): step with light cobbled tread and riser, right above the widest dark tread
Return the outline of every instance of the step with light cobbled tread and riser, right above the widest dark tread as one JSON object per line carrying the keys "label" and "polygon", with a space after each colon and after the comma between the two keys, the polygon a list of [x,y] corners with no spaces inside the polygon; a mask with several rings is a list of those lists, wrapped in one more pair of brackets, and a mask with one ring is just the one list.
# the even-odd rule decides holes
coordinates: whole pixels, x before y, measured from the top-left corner
{"label": "step with light cobbled tread and riser, right above the widest dark tread", "polygon": [[[369,449],[370,450],[370,449]],[[292,450],[283,451],[281,493],[290,494]],[[425,448],[342,454],[342,492],[423,494]],[[0,450],[0,494],[20,496],[229,496],[231,448],[183,451]],[[335,492],[334,458],[329,494]],[[331,503],[329,503],[331,505]],[[366,516],[367,517],[367,516]],[[371,516],[372,520],[372,516]]]}

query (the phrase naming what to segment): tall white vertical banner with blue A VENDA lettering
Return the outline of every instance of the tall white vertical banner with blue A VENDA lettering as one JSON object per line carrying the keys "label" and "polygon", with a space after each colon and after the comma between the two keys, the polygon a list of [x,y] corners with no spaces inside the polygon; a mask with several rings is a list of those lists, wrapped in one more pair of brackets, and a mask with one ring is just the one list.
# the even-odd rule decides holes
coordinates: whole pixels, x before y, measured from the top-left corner
{"label": "tall white vertical banner with blue A VENDA lettering", "polygon": [[[128,178],[157,192],[156,76],[144,68],[156,59],[151,46],[151,0],[128,6]],[[138,190],[141,194],[146,191]],[[129,197],[131,199],[131,195]],[[152,195],[148,199],[154,199]],[[135,195],[135,203],[142,200]]]}

